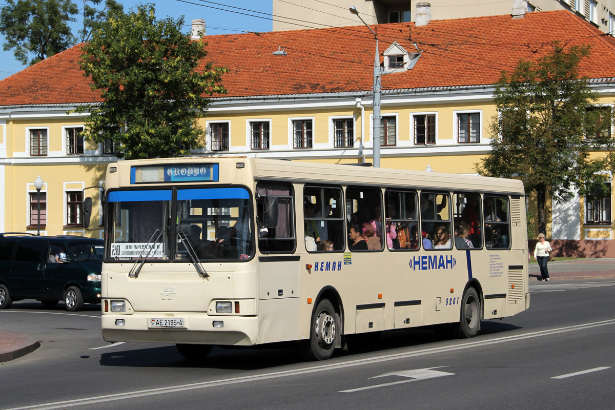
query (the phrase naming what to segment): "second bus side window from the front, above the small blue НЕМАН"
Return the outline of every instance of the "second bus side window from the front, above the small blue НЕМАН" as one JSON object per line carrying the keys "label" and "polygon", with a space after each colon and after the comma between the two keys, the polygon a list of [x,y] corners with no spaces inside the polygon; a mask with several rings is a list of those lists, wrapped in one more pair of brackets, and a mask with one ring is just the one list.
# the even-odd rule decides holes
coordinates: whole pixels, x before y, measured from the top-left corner
{"label": "second bus side window from the front, above the small blue \u041d\u0415\u041c\u0410\u041d", "polygon": [[340,187],[304,187],[303,218],[307,251],[344,250],[344,212]]}

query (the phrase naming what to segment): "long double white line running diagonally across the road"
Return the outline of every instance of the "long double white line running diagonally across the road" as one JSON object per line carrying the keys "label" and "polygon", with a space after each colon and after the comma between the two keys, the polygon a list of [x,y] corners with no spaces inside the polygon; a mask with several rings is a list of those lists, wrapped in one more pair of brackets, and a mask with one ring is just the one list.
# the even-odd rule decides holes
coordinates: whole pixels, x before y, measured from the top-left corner
{"label": "long double white line running diagonally across the road", "polygon": [[[186,392],[188,390],[196,390],[209,387],[217,387],[222,385],[233,385],[245,382],[255,382],[260,380],[271,380],[279,377],[289,376],[304,376],[311,373],[322,373],[325,371],[336,371],[341,368],[351,368],[355,366],[370,365],[372,363],[383,363],[386,361],[399,360],[400,358],[411,358],[425,355],[434,355],[443,352],[454,352],[456,350],[472,349],[474,347],[482,347],[493,344],[501,344],[506,342],[516,342],[523,339],[532,339],[534,337],[552,336],[559,333],[568,333],[577,330],[584,330],[589,328],[595,328],[598,326],[610,326],[615,325],[615,319],[596,321],[591,323],[585,323],[583,325],[565,326],[563,328],[547,329],[531,333],[519,334],[517,336],[504,336],[496,337],[494,339],[486,339],[483,341],[472,342],[460,342],[459,344],[444,347],[433,347],[431,349],[417,350],[415,352],[394,353],[389,355],[362,358],[356,360],[330,360],[330,363],[326,365],[314,365],[308,368],[301,368],[295,370],[277,371],[272,373],[254,374],[252,376],[231,377],[230,379],[210,380],[208,382],[199,382],[191,384],[173,385],[169,387],[148,388],[145,390],[136,390],[134,392],[116,393],[112,395],[104,396],[92,396],[88,398],[81,398],[76,400],[55,401],[54,403],[41,403],[33,404],[31,406],[22,406],[3,410],[54,410],[63,409],[74,406],[84,406],[85,404],[106,403],[109,401],[126,400],[130,398],[138,398],[145,396],[154,396],[167,393]],[[331,363],[332,362],[332,363]],[[405,380],[403,380],[405,381]]]}

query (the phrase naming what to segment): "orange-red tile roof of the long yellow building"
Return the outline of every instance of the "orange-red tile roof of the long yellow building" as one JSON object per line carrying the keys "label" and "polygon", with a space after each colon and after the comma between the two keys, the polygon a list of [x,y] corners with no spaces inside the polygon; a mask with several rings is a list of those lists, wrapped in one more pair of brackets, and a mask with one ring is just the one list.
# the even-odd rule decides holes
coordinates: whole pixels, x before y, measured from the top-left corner
{"label": "orange-red tile roof of the long yellow building", "polygon": [[[373,26],[374,27],[374,26]],[[581,73],[615,77],[615,39],[571,12],[432,20],[425,26],[375,26],[381,54],[394,41],[416,42],[415,68],[383,76],[383,90],[494,84],[519,58],[534,59],[550,44],[591,44]],[[228,97],[360,92],[372,86],[375,41],[365,26],[207,36],[207,60],[229,69]],[[287,56],[271,53],[283,46]],[[0,106],[100,101],[78,66],[82,44],[0,81]]]}

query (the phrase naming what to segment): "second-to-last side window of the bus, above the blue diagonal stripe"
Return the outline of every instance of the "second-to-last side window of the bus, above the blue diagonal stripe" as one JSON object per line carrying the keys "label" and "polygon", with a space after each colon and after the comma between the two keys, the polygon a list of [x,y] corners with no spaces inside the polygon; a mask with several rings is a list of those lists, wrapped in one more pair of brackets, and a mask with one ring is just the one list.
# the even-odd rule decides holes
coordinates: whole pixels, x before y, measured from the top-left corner
{"label": "second-to-last side window of the bus, above the blue diagonal stripe", "polygon": [[[480,209],[480,194],[453,192],[454,226],[456,229],[461,226],[466,230],[464,242],[469,249],[481,249],[483,247],[483,226]],[[458,236],[458,233],[455,236]],[[461,243],[461,245],[463,244]],[[463,247],[458,246],[458,248]]]}

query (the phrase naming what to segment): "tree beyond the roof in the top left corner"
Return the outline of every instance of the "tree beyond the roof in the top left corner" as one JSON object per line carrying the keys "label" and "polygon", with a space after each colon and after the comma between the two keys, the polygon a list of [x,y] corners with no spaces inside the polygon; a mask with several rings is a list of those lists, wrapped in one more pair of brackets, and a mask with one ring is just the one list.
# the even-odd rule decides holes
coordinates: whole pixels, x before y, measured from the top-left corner
{"label": "tree beyond the roof in the top left corner", "polygon": [[4,51],[14,49],[15,58],[30,65],[66,50],[74,44],[68,26],[79,12],[70,0],[6,0],[0,11],[0,33],[4,34]]}

